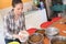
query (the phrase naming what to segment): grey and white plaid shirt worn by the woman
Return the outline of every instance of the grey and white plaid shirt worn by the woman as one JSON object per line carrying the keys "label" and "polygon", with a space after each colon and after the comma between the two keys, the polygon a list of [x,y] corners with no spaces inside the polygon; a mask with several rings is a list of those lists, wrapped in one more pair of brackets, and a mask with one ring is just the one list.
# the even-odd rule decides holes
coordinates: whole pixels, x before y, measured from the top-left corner
{"label": "grey and white plaid shirt worn by the woman", "polygon": [[9,12],[9,15],[4,16],[6,38],[12,38],[12,34],[18,34],[20,31],[25,30],[25,18],[22,13],[18,21],[14,21],[13,11]]}

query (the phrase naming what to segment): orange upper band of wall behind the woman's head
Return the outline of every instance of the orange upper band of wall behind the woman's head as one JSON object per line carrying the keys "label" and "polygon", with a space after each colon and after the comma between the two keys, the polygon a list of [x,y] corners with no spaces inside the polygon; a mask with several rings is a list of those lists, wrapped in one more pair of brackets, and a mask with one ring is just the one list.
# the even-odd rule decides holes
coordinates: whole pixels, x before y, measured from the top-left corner
{"label": "orange upper band of wall behind the woman's head", "polygon": [[[0,9],[3,9],[3,8],[8,8],[11,6],[11,1],[12,0],[0,0]],[[29,2],[29,1],[32,1],[32,0],[22,0],[23,2]]]}

